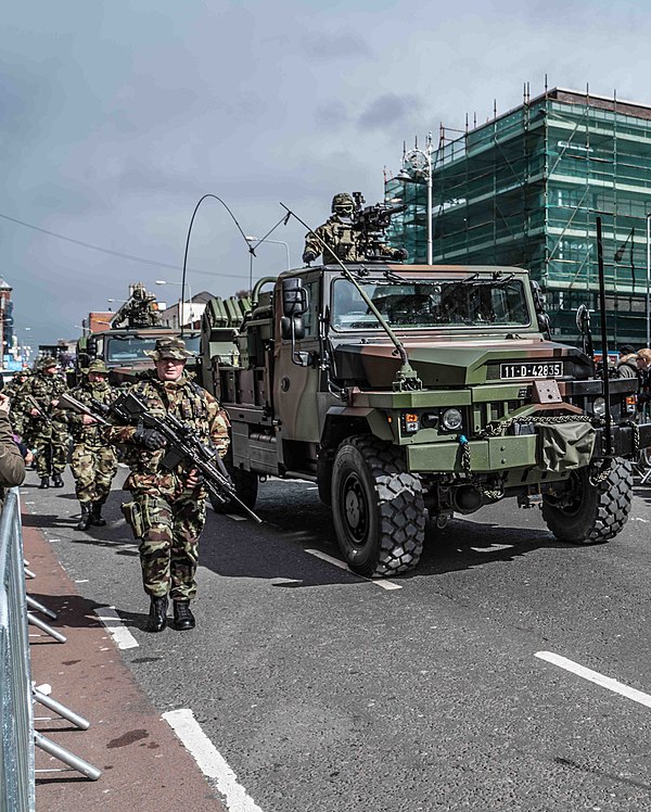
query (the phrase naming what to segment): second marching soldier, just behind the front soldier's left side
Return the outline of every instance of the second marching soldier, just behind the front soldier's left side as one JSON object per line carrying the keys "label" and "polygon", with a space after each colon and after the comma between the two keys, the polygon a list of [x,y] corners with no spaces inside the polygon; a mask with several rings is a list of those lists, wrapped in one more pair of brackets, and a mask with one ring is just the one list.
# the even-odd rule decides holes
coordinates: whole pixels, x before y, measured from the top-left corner
{"label": "second marching soldier, just behind the front soldier's left side", "polygon": [[[92,360],[86,379],[72,390],[71,395],[92,410],[97,410],[94,404],[98,403],[110,405],[116,397],[116,391],[108,384],[107,375],[108,369],[103,360]],[[117,472],[117,455],[94,418],[73,411],[69,423],[75,443],[71,470],[81,506],[81,518],[76,529],[88,530],[91,524],[103,528],[106,520],[102,518],[102,507]]]}

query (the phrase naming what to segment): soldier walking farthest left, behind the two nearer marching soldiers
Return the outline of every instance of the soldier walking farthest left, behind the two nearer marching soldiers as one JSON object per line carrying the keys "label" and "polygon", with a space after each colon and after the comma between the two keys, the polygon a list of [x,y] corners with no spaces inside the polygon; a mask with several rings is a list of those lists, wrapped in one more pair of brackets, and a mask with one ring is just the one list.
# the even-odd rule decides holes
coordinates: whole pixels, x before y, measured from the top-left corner
{"label": "soldier walking farthest left, behind the two nearer marching soldiers", "polygon": [[63,378],[56,375],[55,358],[42,358],[29,378],[25,394],[38,403],[38,409],[28,406],[29,440],[36,453],[36,472],[40,477],[39,487],[50,487],[50,475],[54,487],[63,487],[61,474],[67,460],[67,419],[63,413],[52,415],[59,405],[59,395],[67,391]]}

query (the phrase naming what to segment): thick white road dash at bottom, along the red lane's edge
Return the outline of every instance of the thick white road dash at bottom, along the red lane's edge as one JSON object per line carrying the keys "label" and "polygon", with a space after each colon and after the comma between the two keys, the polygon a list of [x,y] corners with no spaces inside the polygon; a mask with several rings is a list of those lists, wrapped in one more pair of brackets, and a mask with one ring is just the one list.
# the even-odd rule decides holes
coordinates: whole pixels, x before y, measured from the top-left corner
{"label": "thick white road dash at bottom, along the red lane's edge", "polygon": [[218,791],[226,798],[229,812],[263,812],[238,782],[238,776],[202,731],[189,708],[168,711],[163,714],[163,719],[196,761],[202,773],[216,781]]}

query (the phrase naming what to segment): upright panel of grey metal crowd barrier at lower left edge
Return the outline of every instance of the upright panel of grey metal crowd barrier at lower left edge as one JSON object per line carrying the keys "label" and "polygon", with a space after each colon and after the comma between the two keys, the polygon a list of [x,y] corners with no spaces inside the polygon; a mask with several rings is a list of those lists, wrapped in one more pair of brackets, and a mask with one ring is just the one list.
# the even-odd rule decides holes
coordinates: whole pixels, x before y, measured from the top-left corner
{"label": "upright panel of grey metal crowd barrier at lower left edge", "polygon": [[34,812],[34,711],[18,489],[0,517],[0,810]]}

